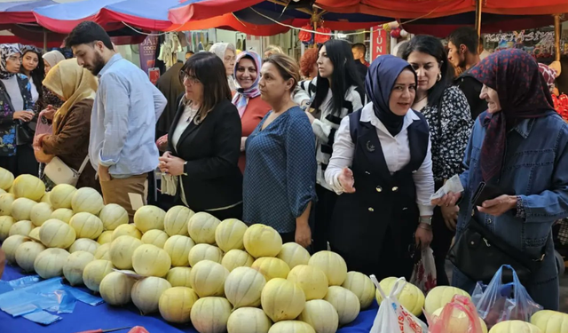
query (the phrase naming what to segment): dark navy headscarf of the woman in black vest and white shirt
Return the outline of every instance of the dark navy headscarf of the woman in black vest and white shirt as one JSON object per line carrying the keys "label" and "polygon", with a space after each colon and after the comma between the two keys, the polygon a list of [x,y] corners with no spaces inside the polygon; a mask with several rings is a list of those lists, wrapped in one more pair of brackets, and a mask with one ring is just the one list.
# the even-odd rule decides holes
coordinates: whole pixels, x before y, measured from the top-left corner
{"label": "dark navy headscarf of the woman in black vest and white shirt", "polygon": [[[397,82],[398,75],[406,68],[414,73],[410,64],[405,60],[383,55],[373,61],[365,78],[365,90],[368,98],[373,102],[375,115],[393,137],[402,130],[405,116],[395,115],[390,111],[390,92],[394,83]],[[415,73],[414,81],[416,81]]]}

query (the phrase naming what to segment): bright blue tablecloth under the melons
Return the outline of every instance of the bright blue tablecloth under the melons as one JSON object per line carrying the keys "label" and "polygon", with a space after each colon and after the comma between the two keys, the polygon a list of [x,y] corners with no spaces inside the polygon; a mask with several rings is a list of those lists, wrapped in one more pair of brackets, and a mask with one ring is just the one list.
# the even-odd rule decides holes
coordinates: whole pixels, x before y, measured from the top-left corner
{"label": "bright blue tablecloth under the melons", "polygon": [[[2,280],[12,281],[25,276],[19,267],[6,266]],[[85,290],[85,289],[83,289]],[[378,306],[359,313],[359,317],[337,333],[368,333],[373,326]],[[13,318],[0,311],[0,333],[75,333],[87,329],[114,329],[126,326],[143,326],[150,333],[197,333],[191,324],[172,326],[163,321],[159,313],[141,316],[134,305],[125,307],[110,306],[106,303],[98,306],[76,302],[73,313],[59,313],[62,320],[48,326],[42,326],[25,318]],[[128,330],[117,333],[126,333]]]}

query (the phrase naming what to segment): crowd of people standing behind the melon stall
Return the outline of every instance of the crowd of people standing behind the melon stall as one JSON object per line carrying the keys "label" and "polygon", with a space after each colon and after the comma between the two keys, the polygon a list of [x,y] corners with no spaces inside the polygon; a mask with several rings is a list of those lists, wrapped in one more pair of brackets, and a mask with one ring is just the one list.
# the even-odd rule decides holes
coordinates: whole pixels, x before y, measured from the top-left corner
{"label": "crowd of people standing behind the melon stall", "polygon": [[[219,43],[171,67],[159,90],[83,22],[67,37],[75,59],[0,46],[0,166],[37,174],[36,157],[58,157],[130,218],[157,167],[173,204],[272,226],[378,278],[410,278],[430,246],[438,284],[469,292],[468,267],[449,281],[445,264],[475,220],[539,263],[525,287],[557,309],[548,240],[568,217],[568,125],[530,55],[481,60],[471,28],[448,40],[414,36],[370,64],[364,44],[336,39],[299,63],[277,46],[263,57]],[[39,111],[52,133],[19,139]],[[431,201],[455,175],[465,191]],[[493,196],[477,202],[480,184]]]}

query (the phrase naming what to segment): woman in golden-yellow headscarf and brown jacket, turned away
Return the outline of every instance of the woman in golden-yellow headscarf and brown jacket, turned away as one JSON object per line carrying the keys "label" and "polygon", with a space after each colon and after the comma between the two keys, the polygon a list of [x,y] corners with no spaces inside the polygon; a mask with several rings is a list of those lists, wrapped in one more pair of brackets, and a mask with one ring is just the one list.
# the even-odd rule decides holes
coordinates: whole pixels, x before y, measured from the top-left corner
{"label": "woman in golden-yellow headscarf and brown jacket, turned away", "polygon": [[[83,166],[76,186],[99,189],[95,170],[91,163],[85,163],[89,158],[91,109],[98,88],[97,79],[87,69],[80,67],[76,59],[67,59],[51,68],[43,85],[65,103],[53,117],[53,134],[38,136],[35,148],[41,149],[44,155],[59,157],[74,170],[80,170]],[[43,178],[47,187],[53,186],[46,175]]]}

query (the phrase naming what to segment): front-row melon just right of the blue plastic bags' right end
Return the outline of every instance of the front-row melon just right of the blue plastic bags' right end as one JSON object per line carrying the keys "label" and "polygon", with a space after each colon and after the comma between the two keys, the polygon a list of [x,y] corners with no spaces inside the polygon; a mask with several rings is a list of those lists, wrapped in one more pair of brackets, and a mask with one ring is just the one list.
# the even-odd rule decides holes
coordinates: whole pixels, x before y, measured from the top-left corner
{"label": "front-row melon just right of the blue plastic bags' right end", "polygon": [[136,280],[121,272],[106,274],[100,281],[99,292],[108,305],[127,305],[130,303],[130,292]]}

